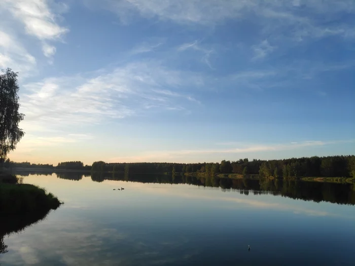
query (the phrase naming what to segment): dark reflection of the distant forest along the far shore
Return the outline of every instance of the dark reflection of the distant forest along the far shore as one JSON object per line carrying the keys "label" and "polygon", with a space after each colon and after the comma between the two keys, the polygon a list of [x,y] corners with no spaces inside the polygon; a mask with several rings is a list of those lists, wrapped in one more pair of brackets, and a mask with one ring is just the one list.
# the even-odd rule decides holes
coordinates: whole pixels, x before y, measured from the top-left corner
{"label": "dark reflection of the distant forest along the far shore", "polygon": [[[48,175],[45,172],[21,171],[16,174]],[[83,176],[90,176],[92,181],[104,180],[130,181],[140,183],[169,183],[191,184],[206,187],[221,187],[223,191],[237,190],[240,194],[249,195],[279,195],[292,199],[314,202],[331,202],[337,204],[355,205],[355,185],[326,182],[308,182],[287,179],[231,179],[219,177],[195,177],[195,176],[170,176],[159,174],[113,174],[113,173],[56,173],[57,178],[68,180],[81,180]]]}

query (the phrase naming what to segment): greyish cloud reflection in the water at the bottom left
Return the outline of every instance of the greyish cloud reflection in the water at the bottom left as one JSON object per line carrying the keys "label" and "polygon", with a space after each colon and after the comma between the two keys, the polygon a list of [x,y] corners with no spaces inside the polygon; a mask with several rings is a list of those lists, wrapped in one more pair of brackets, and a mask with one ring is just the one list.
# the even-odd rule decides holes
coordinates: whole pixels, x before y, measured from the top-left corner
{"label": "greyish cloud reflection in the water at the bottom left", "polygon": [[[102,224],[77,220],[55,223],[44,221],[22,235],[7,240],[9,254],[5,265],[156,265],[183,261],[196,251],[176,254],[186,244],[176,237],[164,243],[159,237],[121,233]],[[192,253],[193,252],[193,253]]]}

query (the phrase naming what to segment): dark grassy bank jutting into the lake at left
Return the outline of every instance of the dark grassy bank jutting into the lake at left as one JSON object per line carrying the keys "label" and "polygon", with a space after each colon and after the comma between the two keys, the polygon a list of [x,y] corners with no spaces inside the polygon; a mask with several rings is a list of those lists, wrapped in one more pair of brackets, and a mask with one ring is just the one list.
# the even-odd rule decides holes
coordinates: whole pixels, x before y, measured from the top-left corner
{"label": "dark grassy bank jutting into the lake at left", "polygon": [[45,189],[18,184],[14,175],[0,175],[0,214],[23,214],[57,209],[61,202]]}

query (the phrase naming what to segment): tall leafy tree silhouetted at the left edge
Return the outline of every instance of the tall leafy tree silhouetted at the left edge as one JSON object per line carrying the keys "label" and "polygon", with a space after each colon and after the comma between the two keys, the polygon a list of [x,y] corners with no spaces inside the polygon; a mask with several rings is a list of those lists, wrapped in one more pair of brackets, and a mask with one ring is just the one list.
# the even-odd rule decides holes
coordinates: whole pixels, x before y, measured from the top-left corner
{"label": "tall leafy tree silhouetted at the left edge", "polygon": [[19,112],[17,95],[19,90],[17,73],[10,68],[0,73],[0,162],[6,159],[11,150],[25,134],[18,124],[23,120]]}

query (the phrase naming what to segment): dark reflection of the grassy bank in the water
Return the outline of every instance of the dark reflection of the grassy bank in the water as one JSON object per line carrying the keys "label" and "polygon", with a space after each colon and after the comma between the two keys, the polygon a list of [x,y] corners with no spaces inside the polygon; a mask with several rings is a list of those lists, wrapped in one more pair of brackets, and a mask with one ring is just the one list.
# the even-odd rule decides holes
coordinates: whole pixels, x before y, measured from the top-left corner
{"label": "dark reflection of the grassy bank in the water", "polygon": [[5,245],[4,237],[14,233],[24,231],[26,227],[38,223],[46,218],[49,211],[38,213],[27,213],[16,216],[6,216],[0,219],[0,254],[8,252],[8,246]]}

